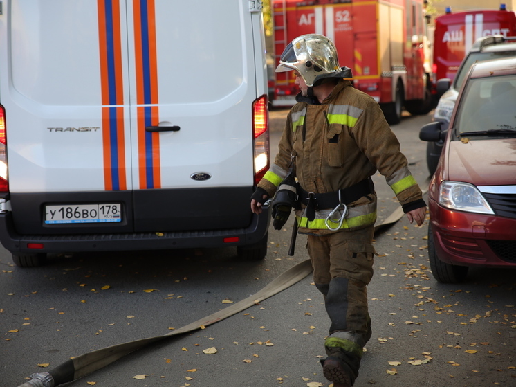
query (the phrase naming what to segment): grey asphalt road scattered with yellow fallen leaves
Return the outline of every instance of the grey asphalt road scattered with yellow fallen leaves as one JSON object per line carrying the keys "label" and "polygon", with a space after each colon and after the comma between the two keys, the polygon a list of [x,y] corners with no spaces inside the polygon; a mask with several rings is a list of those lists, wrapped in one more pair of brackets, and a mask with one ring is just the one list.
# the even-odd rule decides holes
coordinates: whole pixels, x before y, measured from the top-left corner
{"label": "grey asphalt road scattered with yellow fallen leaves", "polygon": [[[271,112],[275,153],[285,111]],[[425,188],[430,116],[405,116],[392,129]],[[374,177],[378,222],[398,208]],[[305,240],[287,255],[291,221],[271,228],[262,262],[234,249],[131,251],[54,257],[19,269],[0,249],[0,386],[17,387],[71,357],[167,334],[236,303],[308,259]],[[373,336],[356,387],[515,386],[516,271],[472,269],[441,285],[427,260],[427,222],[403,217],[376,235],[369,285]],[[133,352],[66,386],[330,386],[322,375],[329,319],[311,276],[204,330]],[[215,348],[216,353],[210,350]],[[135,378],[135,377],[138,377]]]}

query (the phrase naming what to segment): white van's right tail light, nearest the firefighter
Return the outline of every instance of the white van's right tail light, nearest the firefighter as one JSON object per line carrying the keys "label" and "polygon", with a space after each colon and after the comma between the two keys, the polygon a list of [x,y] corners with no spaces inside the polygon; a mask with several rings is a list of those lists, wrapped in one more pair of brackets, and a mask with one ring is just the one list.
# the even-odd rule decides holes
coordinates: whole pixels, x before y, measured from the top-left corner
{"label": "white van's right tail light, nearest the firefighter", "polygon": [[252,139],[255,156],[255,186],[259,183],[270,165],[269,150],[269,112],[267,96],[252,102]]}

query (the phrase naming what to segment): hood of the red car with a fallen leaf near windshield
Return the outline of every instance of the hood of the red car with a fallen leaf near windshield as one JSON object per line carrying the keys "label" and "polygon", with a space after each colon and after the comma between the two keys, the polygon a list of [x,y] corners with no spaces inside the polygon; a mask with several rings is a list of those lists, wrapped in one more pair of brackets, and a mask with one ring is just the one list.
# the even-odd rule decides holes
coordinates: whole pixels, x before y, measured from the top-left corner
{"label": "hood of the red car with a fallen leaf near windshield", "polygon": [[448,179],[475,186],[516,184],[516,138],[451,141]]}

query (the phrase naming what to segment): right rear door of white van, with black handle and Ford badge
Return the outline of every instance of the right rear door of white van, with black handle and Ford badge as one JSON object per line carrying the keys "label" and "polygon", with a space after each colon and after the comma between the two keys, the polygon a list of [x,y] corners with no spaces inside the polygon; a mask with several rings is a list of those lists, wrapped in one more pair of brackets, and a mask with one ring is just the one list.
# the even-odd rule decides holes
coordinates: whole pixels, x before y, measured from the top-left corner
{"label": "right rear door of white van, with black handle and Ford badge", "polygon": [[161,0],[129,10],[136,231],[250,223],[257,85],[248,7]]}

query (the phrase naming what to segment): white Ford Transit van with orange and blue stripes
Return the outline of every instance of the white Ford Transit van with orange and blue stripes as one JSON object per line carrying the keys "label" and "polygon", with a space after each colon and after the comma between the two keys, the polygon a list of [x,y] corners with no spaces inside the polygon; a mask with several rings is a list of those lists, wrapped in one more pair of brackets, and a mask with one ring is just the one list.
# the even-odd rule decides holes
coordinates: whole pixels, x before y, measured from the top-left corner
{"label": "white Ford Transit van with orange and blue stripes", "polygon": [[19,267],[78,251],[264,258],[261,1],[0,6],[0,241]]}

